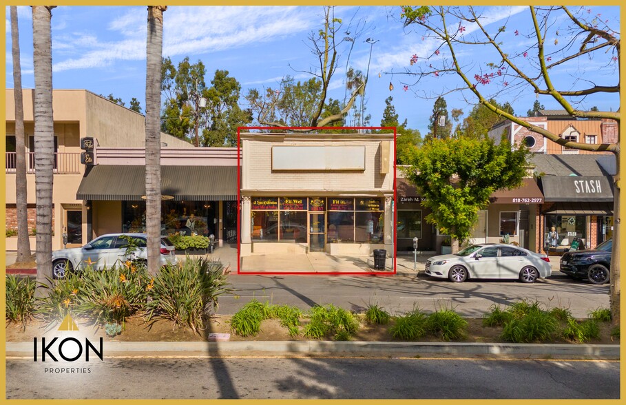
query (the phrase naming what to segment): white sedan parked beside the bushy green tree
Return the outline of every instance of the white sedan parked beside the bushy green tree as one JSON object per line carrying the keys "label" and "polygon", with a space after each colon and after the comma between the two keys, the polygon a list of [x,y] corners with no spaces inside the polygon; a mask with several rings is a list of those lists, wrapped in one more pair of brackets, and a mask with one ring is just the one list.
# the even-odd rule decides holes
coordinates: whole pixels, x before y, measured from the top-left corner
{"label": "white sedan parked beside the bushy green tree", "polygon": [[468,278],[503,278],[535,282],[552,273],[550,258],[512,245],[481,243],[459,253],[426,261],[426,274],[463,282]]}

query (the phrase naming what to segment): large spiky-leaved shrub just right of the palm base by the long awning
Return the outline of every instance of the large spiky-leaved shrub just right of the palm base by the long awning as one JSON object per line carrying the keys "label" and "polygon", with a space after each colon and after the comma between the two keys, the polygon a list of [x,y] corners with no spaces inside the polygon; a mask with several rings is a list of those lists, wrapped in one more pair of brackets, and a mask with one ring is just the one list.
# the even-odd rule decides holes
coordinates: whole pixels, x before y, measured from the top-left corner
{"label": "large spiky-leaved shrub just right of the palm base by the long awning", "polygon": [[152,301],[149,318],[157,315],[198,333],[205,316],[213,315],[220,295],[229,293],[227,272],[220,262],[188,258],[184,264],[163,267],[156,279],[145,286]]}

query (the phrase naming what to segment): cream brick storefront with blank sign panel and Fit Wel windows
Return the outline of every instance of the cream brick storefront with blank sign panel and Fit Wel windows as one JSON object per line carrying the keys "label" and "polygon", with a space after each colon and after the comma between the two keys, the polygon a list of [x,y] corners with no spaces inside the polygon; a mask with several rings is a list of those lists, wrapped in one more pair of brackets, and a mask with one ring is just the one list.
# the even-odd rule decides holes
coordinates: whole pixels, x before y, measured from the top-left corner
{"label": "cream brick storefront with blank sign panel and Fit Wel windows", "polygon": [[241,140],[241,256],[393,255],[393,134]]}

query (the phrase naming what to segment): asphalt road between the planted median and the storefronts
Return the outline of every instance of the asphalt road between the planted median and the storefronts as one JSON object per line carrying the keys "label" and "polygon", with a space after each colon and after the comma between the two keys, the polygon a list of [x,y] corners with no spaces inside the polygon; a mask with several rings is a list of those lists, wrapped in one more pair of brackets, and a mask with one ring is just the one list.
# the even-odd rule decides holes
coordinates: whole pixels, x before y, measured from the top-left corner
{"label": "asphalt road between the planted median and the storefronts", "polygon": [[493,304],[538,300],[545,307],[569,308],[578,318],[609,307],[609,286],[560,277],[523,284],[503,280],[448,280],[419,276],[229,276],[236,295],[222,295],[218,313],[231,315],[256,298],[262,302],[290,304],[308,309],[315,304],[335,304],[361,311],[378,304],[391,313],[454,308],[463,316],[480,317]]}

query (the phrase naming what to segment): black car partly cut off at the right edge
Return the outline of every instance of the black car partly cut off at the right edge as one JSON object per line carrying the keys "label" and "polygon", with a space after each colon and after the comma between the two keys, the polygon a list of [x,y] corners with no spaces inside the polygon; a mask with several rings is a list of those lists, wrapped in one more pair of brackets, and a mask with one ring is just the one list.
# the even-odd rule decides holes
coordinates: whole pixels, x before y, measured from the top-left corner
{"label": "black car partly cut off at the right edge", "polygon": [[612,248],[613,240],[609,239],[596,249],[567,252],[561,257],[561,271],[573,278],[586,278],[593,284],[609,282]]}

